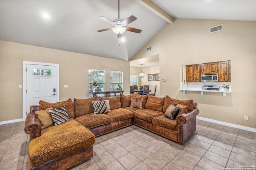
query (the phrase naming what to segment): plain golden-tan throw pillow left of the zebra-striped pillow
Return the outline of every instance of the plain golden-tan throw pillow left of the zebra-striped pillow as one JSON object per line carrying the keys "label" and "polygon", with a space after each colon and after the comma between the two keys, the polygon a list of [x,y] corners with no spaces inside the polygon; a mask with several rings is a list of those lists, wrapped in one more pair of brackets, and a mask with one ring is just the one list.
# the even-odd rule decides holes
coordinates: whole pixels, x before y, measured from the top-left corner
{"label": "plain golden-tan throw pillow left of the zebra-striped pillow", "polygon": [[52,125],[52,117],[49,112],[52,107],[45,109],[45,110],[38,110],[35,111],[36,117],[40,120],[41,128],[44,129],[50,125]]}

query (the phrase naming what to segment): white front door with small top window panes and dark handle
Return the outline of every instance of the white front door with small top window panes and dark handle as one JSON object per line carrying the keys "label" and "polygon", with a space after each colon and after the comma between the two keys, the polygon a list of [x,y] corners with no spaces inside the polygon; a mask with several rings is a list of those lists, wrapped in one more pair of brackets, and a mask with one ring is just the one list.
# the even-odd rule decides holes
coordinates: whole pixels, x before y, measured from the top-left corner
{"label": "white front door with small top window panes and dark handle", "polygon": [[26,89],[26,105],[23,104],[23,107],[26,107],[23,109],[26,115],[30,112],[30,106],[38,105],[40,100],[58,102],[57,73],[56,65],[26,63],[26,86],[23,84],[24,90]]}

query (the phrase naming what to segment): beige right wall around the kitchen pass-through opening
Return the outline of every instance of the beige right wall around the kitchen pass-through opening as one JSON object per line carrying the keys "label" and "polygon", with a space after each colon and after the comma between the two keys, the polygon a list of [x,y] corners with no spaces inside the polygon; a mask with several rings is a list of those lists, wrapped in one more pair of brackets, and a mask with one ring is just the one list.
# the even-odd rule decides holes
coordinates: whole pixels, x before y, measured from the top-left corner
{"label": "beige right wall around the kitchen pass-through opening", "polygon": [[[209,27],[223,23],[223,31],[209,34]],[[193,99],[198,116],[256,128],[256,21],[176,19],[166,24],[132,60],[160,57],[160,96]],[[152,51],[145,52],[145,47]],[[180,65],[231,60],[232,92],[187,92],[180,88]],[[244,120],[244,115],[249,120]]]}

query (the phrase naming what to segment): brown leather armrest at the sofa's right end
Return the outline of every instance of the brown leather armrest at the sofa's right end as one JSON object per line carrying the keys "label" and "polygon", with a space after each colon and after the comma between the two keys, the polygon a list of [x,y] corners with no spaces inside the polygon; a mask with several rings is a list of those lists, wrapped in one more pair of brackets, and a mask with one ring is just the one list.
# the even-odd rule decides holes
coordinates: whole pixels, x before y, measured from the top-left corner
{"label": "brown leather armrest at the sofa's right end", "polygon": [[196,116],[198,113],[199,109],[194,108],[188,113],[177,116],[178,143],[183,143],[196,131]]}

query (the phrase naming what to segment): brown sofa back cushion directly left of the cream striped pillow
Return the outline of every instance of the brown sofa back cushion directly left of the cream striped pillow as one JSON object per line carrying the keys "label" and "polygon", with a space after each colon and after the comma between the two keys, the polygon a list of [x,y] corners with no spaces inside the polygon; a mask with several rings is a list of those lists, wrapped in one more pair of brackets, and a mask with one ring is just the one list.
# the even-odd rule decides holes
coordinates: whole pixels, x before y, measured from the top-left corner
{"label": "brown sofa back cushion directly left of the cream striped pillow", "polygon": [[76,117],[88,114],[88,113],[93,113],[94,109],[92,106],[92,101],[97,101],[98,96],[94,96],[92,98],[88,99],[74,99],[74,107],[75,107],[75,114]]}

